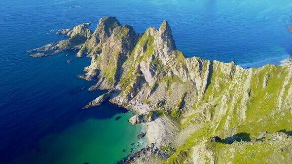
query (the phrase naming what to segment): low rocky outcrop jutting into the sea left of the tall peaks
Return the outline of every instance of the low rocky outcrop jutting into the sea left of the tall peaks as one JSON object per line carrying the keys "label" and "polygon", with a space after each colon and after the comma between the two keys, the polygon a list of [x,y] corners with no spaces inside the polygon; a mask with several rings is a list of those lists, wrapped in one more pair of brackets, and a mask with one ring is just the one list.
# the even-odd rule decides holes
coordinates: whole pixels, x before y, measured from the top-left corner
{"label": "low rocky outcrop jutting into the sea left of the tall peaks", "polygon": [[91,35],[91,30],[84,24],[74,27],[66,33],[70,38],[58,43],[48,44],[44,47],[27,51],[32,57],[46,57],[59,54],[67,50],[80,49]]}

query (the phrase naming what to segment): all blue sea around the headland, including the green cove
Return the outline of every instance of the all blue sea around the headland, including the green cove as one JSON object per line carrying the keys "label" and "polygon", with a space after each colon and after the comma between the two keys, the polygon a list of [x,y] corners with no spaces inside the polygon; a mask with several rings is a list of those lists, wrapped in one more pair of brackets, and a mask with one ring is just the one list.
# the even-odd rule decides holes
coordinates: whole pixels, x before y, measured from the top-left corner
{"label": "all blue sea around the headland, including the green cove", "polygon": [[116,16],[143,32],[167,20],[187,57],[259,67],[291,54],[291,13],[289,0],[1,0],[0,163],[115,163],[142,144],[127,110],[109,103],[82,110],[105,92],[87,92],[94,81],[76,77],[90,59],[28,57],[63,39],[51,30],[84,22],[94,30],[99,18]]}

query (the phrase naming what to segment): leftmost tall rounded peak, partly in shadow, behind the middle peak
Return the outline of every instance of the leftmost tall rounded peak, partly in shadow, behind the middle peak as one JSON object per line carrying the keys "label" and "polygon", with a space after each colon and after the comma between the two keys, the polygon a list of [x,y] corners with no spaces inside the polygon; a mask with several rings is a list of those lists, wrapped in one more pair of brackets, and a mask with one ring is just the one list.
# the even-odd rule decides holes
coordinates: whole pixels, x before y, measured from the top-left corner
{"label": "leftmost tall rounded peak, partly in shadow, behind the middle peak", "polygon": [[77,53],[78,57],[83,57],[85,54],[98,54],[102,49],[102,45],[106,42],[116,27],[121,26],[121,23],[116,17],[105,17],[99,20],[98,27],[94,33],[88,38],[81,50]]}

